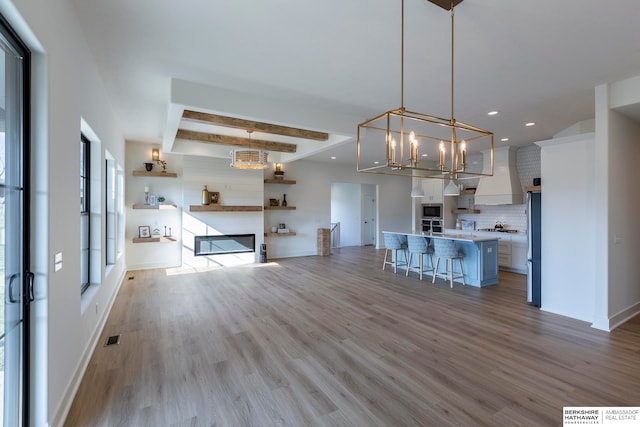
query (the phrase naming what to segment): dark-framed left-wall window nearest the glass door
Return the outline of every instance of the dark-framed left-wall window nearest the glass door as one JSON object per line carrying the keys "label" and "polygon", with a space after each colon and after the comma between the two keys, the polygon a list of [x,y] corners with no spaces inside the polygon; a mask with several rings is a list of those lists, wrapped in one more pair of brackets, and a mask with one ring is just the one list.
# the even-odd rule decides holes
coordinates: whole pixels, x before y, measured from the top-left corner
{"label": "dark-framed left-wall window nearest the glass door", "polygon": [[91,142],[80,134],[80,292],[91,283]]}

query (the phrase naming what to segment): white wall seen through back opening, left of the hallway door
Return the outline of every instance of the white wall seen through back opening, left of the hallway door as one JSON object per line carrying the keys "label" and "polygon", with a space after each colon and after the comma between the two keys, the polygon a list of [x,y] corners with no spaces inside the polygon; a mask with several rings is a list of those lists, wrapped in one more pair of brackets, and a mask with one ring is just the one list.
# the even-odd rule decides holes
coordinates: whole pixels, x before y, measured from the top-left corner
{"label": "white wall seen through back opening, left of the hallway door", "polygon": [[361,244],[361,187],[345,182],[331,184],[331,222],[340,223],[340,246]]}

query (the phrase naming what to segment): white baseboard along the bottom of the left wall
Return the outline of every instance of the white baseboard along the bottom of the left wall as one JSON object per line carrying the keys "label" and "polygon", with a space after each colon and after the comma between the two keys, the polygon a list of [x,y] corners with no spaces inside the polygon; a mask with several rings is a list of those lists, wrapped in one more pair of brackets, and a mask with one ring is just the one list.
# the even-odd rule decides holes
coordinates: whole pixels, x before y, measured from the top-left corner
{"label": "white baseboard along the bottom of the left wall", "polygon": [[100,336],[102,335],[102,331],[107,323],[107,319],[109,318],[109,313],[111,313],[111,308],[116,301],[116,297],[118,296],[118,292],[120,291],[120,287],[124,283],[124,279],[126,277],[127,270],[122,272],[120,279],[116,282],[118,285],[116,286],[113,294],[109,298],[109,303],[107,305],[107,309],[104,310],[102,316],[100,317],[100,321],[96,324],[96,327],[93,331],[93,338],[89,340],[89,344],[85,347],[82,352],[82,357],[78,362],[78,366],[76,371],[72,377],[72,380],[69,382],[67,386],[67,390],[64,393],[64,398],[60,400],[58,407],[53,412],[53,416],[51,417],[50,426],[53,427],[62,427],[64,425],[65,420],[67,419],[67,415],[69,414],[69,410],[71,409],[71,405],[73,404],[73,399],[78,392],[78,388],[80,387],[80,383],[82,382],[82,378],[84,377],[85,372],[87,371],[87,367],[89,366],[89,361],[91,360],[91,356],[93,355],[93,351],[95,350],[98,342],[100,340]]}

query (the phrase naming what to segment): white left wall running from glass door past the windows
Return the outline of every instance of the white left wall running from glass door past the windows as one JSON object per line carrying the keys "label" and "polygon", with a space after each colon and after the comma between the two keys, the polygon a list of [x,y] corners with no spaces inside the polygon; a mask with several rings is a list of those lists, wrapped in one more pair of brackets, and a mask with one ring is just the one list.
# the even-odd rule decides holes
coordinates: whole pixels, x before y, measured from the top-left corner
{"label": "white left wall running from glass door past the windows", "polygon": [[[32,144],[39,167],[33,171],[38,187],[32,247],[45,248],[46,254],[32,258],[37,272],[33,417],[37,425],[59,425],[124,274],[124,256],[105,274],[102,239],[101,282],[81,300],[81,118],[100,140],[102,165],[108,150],[124,166],[124,140],[72,5],[65,0],[17,0],[2,2],[0,10],[34,52]],[[104,166],[94,172],[102,175]],[[104,233],[101,223],[98,231]],[[58,252],[63,254],[63,268],[54,273],[51,260]]]}

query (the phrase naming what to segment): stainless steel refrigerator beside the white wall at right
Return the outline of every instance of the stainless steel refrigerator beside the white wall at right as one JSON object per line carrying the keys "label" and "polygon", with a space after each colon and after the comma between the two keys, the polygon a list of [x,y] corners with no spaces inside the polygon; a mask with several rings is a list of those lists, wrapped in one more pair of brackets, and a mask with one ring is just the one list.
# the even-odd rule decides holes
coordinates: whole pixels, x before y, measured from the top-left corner
{"label": "stainless steel refrigerator beside the white wall at right", "polygon": [[541,281],[541,212],[542,194],[540,192],[527,193],[527,301],[540,307],[542,299]]}

